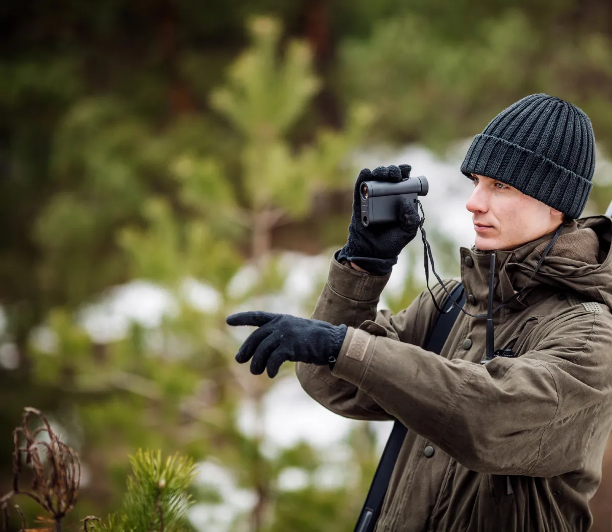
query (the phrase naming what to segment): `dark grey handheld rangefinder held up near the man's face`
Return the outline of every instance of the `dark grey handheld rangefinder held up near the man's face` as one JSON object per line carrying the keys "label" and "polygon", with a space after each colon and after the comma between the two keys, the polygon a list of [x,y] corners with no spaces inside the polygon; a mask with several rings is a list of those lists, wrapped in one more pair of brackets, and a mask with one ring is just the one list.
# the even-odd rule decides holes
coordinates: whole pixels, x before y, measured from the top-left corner
{"label": "dark grey handheld rangefinder held up near the man's face", "polygon": [[428,191],[425,176],[402,179],[398,183],[364,181],[359,187],[361,223],[367,227],[373,223],[397,222],[404,198],[419,212],[417,196],[425,196]]}

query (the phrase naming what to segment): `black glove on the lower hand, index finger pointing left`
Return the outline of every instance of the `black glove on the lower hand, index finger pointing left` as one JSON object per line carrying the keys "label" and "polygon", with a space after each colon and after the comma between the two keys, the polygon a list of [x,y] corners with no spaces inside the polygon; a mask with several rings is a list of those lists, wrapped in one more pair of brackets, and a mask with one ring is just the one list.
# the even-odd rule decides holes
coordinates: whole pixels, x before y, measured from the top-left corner
{"label": "black glove on the lower hand, index finger pointing left", "polygon": [[236,361],[251,360],[251,373],[268,377],[278,373],[286,360],[307,364],[334,364],[346,336],[346,325],[307,320],[272,312],[238,312],[226,318],[228,325],[255,325],[236,354]]}

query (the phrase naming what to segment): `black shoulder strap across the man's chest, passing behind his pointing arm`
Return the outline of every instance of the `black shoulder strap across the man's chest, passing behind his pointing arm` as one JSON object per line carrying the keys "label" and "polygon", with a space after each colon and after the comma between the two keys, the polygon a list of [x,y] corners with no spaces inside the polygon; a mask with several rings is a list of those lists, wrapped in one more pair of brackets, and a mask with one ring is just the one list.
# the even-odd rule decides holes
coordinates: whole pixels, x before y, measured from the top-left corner
{"label": "black shoulder strap across the man's chest, passing behind his pointing arm", "polygon": [[[465,291],[461,283],[453,288],[451,295],[454,299],[457,299],[460,306],[463,306]],[[444,312],[438,315],[425,346],[427,351],[433,351],[437,354],[440,354],[440,351],[442,351],[442,346],[446,342],[450,329],[452,329],[459,314],[459,307],[453,304],[450,298],[446,299],[442,310]],[[400,454],[401,446],[406,438],[406,433],[408,433],[408,429],[400,421],[396,420],[376,468],[376,473],[370,485],[370,491],[365,498],[364,508],[362,508],[361,514],[359,514],[354,532],[372,532],[374,530],[376,520],[378,520],[383,506],[384,496],[387,493],[387,487],[389,487],[391,473],[393,473],[397,456]]]}

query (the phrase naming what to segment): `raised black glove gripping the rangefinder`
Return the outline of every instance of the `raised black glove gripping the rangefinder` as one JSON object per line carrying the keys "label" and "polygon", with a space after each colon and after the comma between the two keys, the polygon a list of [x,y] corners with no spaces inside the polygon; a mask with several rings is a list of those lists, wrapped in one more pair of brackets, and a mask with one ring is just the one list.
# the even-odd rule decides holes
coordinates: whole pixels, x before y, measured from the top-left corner
{"label": "raised black glove gripping the rangefinder", "polygon": [[412,167],[378,167],[373,171],[364,168],[359,172],[353,193],[353,215],[348,227],[348,241],[338,250],[336,260],[345,258],[360,268],[375,275],[384,275],[397,264],[397,257],[419,230],[419,214],[408,200],[401,206],[399,222],[381,223],[364,227],[361,223],[361,200],[359,187],[364,181],[389,181],[398,183],[408,178]]}

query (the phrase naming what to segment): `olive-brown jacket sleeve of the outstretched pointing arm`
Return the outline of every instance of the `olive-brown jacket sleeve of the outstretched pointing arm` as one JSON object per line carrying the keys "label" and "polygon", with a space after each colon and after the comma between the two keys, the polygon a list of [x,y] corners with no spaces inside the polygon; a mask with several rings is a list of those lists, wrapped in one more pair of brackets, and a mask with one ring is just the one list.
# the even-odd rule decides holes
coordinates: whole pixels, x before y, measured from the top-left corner
{"label": "olive-brown jacket sleeve of the outstretched pointing arm", "polygon": [[612,315],[574,307],[534,335],[481,365],[349,328],[332,374],[470,470],[580,470],[610,430]]}

